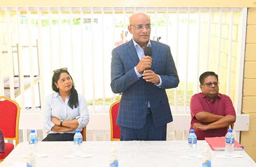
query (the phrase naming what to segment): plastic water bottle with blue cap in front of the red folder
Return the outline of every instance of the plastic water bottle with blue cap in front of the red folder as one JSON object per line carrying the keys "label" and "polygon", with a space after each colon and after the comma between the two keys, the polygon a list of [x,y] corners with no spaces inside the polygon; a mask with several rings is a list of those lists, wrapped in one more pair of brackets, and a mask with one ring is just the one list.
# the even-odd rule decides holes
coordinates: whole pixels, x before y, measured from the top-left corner
{"label": "plastic water bottle with blue cap in front of the red folder", "polygon": [[234,142],[235,142],[235,136],[233,134],[232,129],[228,129],[228,132],[226,134],[226,147],[225,147],[225,156],[232,157],[234,156]]}

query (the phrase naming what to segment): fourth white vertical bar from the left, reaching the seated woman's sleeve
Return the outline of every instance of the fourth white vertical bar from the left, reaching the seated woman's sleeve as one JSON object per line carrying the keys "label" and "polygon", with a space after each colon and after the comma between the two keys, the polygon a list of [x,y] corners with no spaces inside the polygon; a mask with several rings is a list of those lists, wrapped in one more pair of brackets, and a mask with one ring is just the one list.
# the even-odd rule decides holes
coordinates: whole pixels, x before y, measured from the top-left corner
{"label": "fourth white vertical bar from the left, reaching the seated woman's sleeve", "polygon": [[[42,15],[41,9],[38,7],[38,75],[40,76],[40,84],[38,82],[39,105],[42,106],[42,100],[45,98],[45,77],[44,77],[44,57],[42,49]],[[41,89],[41,91],[40,91]]]}

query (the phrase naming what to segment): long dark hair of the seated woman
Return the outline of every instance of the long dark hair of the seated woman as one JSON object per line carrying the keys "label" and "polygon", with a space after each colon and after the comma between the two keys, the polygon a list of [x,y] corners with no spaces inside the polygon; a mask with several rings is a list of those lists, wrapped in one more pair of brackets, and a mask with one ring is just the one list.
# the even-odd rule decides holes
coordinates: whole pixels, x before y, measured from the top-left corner
{"label": "long dark hair of the seated woman", "polygon": [[52,90],[55,91],[55,92],[59,92],[59,89],[57,89],[54,82],[58,83],[58,80],[60,79],[60,74],[64,73],[64,72],[66,72],[70,76],[70,78],[73,82],[72,88],[71,88],[71,91],[70,91],[70,97],[69,97],[69,100],[68,100],[68,106],[72,109],[77,108],[78,107],[78,95],[77,95],[77,91],[75,89],[75,84],[74,84],[73,78],[71,77],[71,75],[69,74],[68,71],[60,70],[60,72],[53,74],[53,76],[52,76]]}

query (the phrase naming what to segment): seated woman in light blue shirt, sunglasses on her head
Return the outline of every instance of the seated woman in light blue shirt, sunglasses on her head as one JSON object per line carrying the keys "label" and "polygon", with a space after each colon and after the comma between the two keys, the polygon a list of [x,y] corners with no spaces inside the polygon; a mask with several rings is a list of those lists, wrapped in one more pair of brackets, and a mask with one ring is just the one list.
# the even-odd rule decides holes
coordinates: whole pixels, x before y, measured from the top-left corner
{"label": "seated woman in light blue shirt, sunglasses on her head", "polygon": [[43,106],[44,130],[42,141],[73,141],[75,129],[82,130],[89,122],[89,112],[83,95],[78,94],[67,68],[54,70],[53,94]]}

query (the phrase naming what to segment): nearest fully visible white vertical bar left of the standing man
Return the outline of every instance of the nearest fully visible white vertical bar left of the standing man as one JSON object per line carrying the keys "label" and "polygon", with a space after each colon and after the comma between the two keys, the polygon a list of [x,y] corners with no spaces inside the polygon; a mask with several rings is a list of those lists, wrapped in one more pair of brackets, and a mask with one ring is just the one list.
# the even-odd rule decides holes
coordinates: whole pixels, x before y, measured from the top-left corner
{"label": "nearest fully visible white vertical bar left of the standing man", "polygon": [[[106,112],[105,109],[105,52],[104,52],[104,8],[101,8],[101,17],[102,17],[102,91],[103,91],[103,98],[102,98],[102,105],[103,105],[103,113]],[[125,35],[124,35],[125,36]]]}

